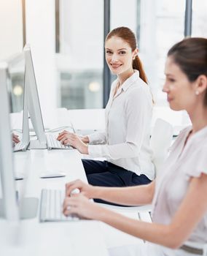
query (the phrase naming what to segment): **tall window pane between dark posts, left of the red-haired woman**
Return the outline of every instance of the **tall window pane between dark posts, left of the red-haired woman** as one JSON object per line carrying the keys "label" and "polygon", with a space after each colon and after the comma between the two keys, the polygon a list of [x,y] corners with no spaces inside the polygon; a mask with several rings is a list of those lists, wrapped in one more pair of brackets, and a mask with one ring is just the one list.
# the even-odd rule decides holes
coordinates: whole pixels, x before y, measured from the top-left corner
{"label": "tall window pane between dark posts, left of the red-haired woman", "polygon": [[60,0],[59,106],[103,106],[103,1]]}

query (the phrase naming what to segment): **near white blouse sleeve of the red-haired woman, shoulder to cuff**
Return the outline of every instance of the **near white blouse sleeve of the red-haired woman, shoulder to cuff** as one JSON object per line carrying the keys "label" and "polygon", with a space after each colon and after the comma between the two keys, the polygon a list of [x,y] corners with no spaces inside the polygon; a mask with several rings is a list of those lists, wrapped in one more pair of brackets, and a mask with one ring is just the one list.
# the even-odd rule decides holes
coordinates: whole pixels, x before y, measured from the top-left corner
{"label": "near white blouse sleeve of the red-haired woman, shoulder to cuff", "polygon": [[145,127],[150,125],[152,97],[144,88],[134,89],[125,101],[127,135],[125,143],[88,146],[91,157],[110,159],[138,157],[144,140]]}

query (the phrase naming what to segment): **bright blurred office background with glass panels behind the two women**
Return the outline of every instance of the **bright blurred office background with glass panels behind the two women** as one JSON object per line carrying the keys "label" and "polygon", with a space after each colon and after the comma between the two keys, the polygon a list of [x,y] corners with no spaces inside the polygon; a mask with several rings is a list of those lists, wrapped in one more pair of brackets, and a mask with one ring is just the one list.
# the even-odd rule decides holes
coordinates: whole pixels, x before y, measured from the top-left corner
{"label": "bright blurred office background with glass panels behind the two women", "polygon": [[[112,80],[104,38],[135,31],[155,105],[168,108],[165,56],[185,36],[207,37],[206,0],[0,0],[0,61],[28,43],[42,111],[104,108]],[[8,75],[12,112],[23,110],[23,63]]]}

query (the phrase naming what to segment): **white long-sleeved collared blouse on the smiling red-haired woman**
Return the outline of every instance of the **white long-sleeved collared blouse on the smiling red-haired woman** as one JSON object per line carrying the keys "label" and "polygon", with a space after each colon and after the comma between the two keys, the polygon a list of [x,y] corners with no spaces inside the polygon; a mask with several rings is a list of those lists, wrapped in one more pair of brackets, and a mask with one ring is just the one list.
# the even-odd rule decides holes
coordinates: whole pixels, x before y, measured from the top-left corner
{"label": "white long-sleeved collared blouse on the smiling red-haired woman", "polygon": [[144,174],[152,180],[155,178],[155,167],[149,147],[152,120],[149,86],[139,78],[137,70],[125,80],[114,96],[116,86],[117,80],[112,83],[106,105],[106,132],[88,136],[89,155],[106,157],[114,165],[138,175]]}

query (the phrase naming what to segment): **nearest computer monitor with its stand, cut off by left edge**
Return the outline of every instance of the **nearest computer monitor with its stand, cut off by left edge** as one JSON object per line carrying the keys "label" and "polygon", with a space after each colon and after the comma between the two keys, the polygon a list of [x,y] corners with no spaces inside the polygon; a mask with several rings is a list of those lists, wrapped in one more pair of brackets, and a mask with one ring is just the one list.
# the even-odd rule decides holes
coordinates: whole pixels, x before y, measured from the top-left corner
{"label": "nearest computer monitor with its stand, cut off by left edge", "polygon": [[38,199],[17,198],[9,122],[7,70],[7,63],[0,63],[0,217],[17,222],[20,219],[36,217]]}

